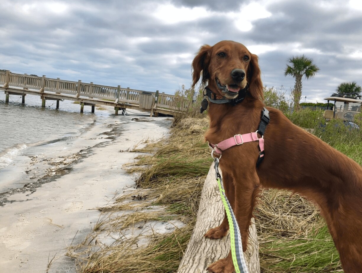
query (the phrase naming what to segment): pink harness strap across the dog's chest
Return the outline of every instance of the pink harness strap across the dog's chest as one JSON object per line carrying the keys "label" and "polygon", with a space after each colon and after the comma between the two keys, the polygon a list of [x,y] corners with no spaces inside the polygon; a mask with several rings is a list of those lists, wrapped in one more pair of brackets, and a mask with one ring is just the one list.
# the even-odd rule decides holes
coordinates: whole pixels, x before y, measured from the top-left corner
{"label": "pink harness strap across the dog's chest", "polygon": [[234,135],[231,138],[225,139],[222,142],[214,145],[209,143],[209,146],[212,150],[211,155],[214,157],[214,153],[216,155],[221,155],[222,151],[236,145],[241,145],[246,142],[252,142],[252,141],[258,141],[259,142],[259,149],[260,149],[260,155],[259,157],[262,158],[264,156],[264,138],[258,138],[257,132],[254,133],[248,133],[243,135]]}

